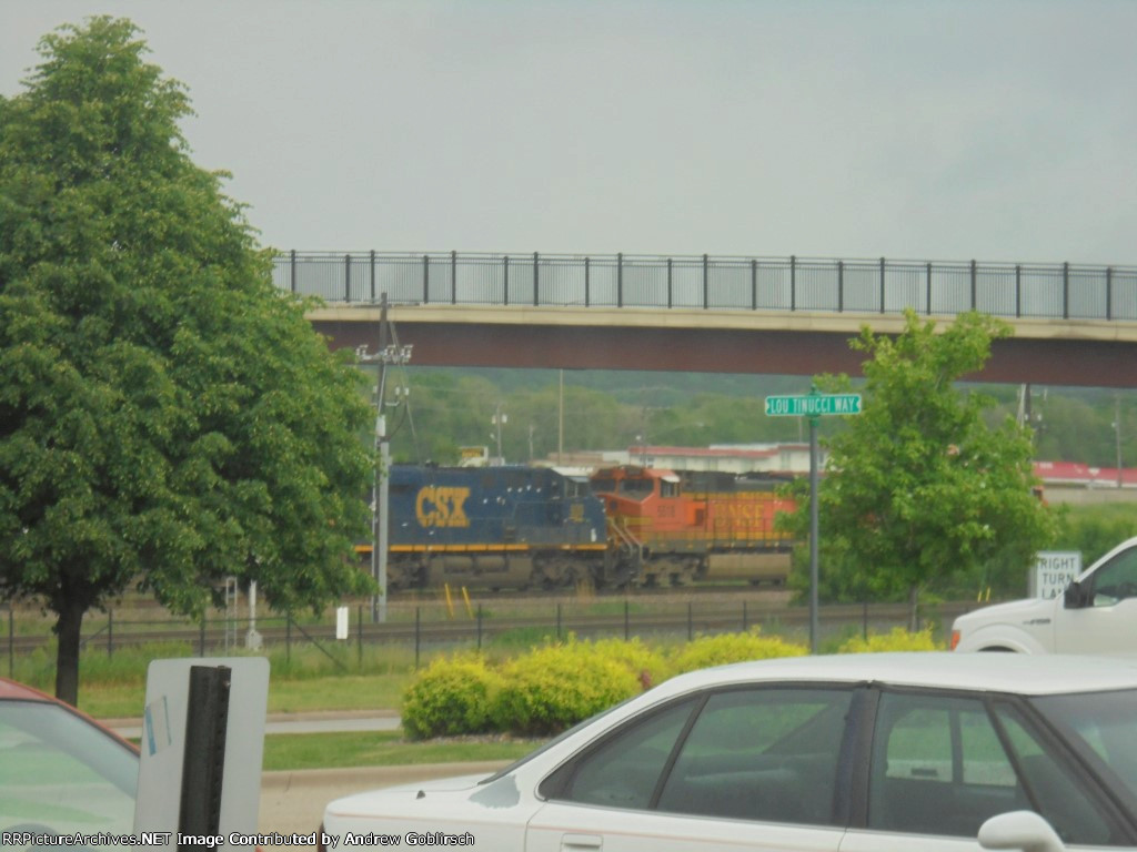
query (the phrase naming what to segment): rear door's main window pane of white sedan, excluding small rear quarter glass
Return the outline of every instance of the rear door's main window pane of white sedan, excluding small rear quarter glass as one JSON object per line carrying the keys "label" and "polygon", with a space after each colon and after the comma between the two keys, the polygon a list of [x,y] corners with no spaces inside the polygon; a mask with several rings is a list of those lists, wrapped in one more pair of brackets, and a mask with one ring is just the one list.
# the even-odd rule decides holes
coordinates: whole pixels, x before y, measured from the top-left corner
{"label": "rear door's main window pane of white sedan, excluding small rear quarter glass", "polygon": [[830,825],[849,690],[712,695],[659,795],[659,810]]}

